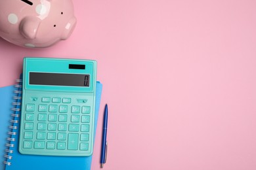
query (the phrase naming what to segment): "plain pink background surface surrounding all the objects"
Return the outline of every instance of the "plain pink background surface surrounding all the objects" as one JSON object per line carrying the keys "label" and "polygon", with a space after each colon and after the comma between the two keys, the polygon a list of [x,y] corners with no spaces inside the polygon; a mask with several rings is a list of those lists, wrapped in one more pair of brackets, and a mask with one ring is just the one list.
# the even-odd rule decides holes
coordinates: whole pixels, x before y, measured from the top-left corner
{"label": "plain pink background surface surrounding all the objects", "polygon": [[24,56],[98,61],[92,169],[256,169],[256,1],[74,0],[77,27],[51,48],[0,39],[0,86]]}

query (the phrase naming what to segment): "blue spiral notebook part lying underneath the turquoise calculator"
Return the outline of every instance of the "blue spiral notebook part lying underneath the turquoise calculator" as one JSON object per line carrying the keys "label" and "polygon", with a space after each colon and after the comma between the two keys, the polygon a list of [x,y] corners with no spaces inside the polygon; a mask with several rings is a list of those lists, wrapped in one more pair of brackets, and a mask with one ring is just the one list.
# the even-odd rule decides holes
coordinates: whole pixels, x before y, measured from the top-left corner
{"label": "blue spiral notebook part lying underneath the turquoise calculator", "polygon": [[[11,90],[11,87],[10,87]],[[13,90],[13,89],[12,89]],[[21,88],[19,89],[21,90]],[[1,92],[1,91],[0,91]],[[96,84],[96,105],[95,105],[95,132],[96,132],[96,125],[98,121],[98,110],[100,107],[100,97],[102,92],[102,84],[100,82],[97,82]],[[2,96],[2,94],[0,94]],[[13,93],[12,93],[13,95]],[[21,94],[18,93],[18,95],[21,96]],[[6,96],[9,97],[9,96]],[[5,97],[3,97],[5,99]],[[12,99],[9,99],[9,102],[11,103]],[[19,103],[20,101],[17,101]],[[10,105],[9,105],[10,107]],[[17,105],[16,109],[19,109],[19,105]],[[6,158],[6,170],[16,170],[16,169],[26,169],[26,170],[32,170],[32,169],[91,169],[91,160],[92,156],[86,156],[86,157],[74,157],[74,156],[33,156],[33,155],[24,155],[20,154],[18,152],[18,135],[19,130],[15,129],[15,127],[19,127],[19,124],[15,123],[15,120],[19,121],[19,117],[16,117],[15,115],[19,115],[20,112],[18,110],[13,111],[10,109],[8,110],[8,114],[12,114],[14,120],[14,124],[12,126],[12,133],[16,133],[16,135],[11,135],[9,137],[9,144],[11,147],[9,147],[9,153],[8,158]],[[9,116],[10,118],[10,116]],[[0,124],[1,124],[0,120]],[[9,121],[8,121],[9,122]],[[10,131],[10,130],[9,130]],[[95,133],[94,132],[94,133]],[[5,132],[7,133],[7,132]],[[6,142],[6,140],[5,140]],[[13,144],[13,145],[12,145]],[[13,146],[13,147],[12,147]],[[11,153],[12,152],[12,153]]]}

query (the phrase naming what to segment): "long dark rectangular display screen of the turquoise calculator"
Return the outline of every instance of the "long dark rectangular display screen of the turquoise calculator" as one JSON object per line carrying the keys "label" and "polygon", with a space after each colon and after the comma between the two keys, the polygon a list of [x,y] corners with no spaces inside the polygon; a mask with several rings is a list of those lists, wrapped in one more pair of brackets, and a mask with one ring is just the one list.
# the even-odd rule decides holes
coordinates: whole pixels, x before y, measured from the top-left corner
{"label": "long dark rectangular display screen of the turquoise calculator", "polygon": [[90,75],[30,72],[30,84],[89,87]]}

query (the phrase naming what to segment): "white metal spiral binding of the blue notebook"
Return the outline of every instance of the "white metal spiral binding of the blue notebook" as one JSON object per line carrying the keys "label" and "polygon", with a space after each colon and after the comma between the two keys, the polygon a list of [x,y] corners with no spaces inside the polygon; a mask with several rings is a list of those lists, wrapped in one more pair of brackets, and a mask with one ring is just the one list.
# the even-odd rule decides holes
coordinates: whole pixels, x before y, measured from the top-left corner
{"label": "white metal spiral binding of the blue notebook", "polygon": [[15,102],[12,103],[13,107],[12,107],[12,111],[13,113],[11,114],[12,116],[12,120],[10,120],[11,122],[11,126],[9,126],[9,129],[11,129],[11,131],[8,132],[8,135],[11,135],[11,137],[7,138],[7,141],[9,141],[8,143],[5,144],[5,146],[9,147],[8,149],[5,149],[5,158],[6,161],[4,161],[3,163],[5,163],[6,165],[11,165],[11,160],[12,160],[12,153],[13,153],[13,148],[14,148],[14,144],[12,144],[12,141],[15,141],[16,138],[15,136],[17,135],[17,133],[15,131],[12,131],[13,129],[18,129],[18,120],[16,120],[16,118],[20,117],[20,114],[18,114],[18,112],[20,112],[20,101],[22,99],[21,94],[22,94],[22,80],[21,79],[17,79],[16,82],[18,84],[14,85],[14,87],[16,88],[16,90],[14,90],[14,93],[16,93],[16,96],[13,97],[13,99],[15,100]]}

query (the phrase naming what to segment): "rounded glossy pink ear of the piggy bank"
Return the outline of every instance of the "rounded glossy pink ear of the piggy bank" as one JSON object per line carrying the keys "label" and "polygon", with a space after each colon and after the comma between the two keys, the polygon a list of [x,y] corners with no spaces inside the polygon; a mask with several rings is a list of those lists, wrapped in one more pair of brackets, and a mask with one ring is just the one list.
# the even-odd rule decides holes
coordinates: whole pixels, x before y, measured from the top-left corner
{"label": "rounded glossy pink ear of the piggy bank", "polygon": [[20,33],[27,39],[35,39],[41,20],[37,17],[26,17],[20,22]]}

